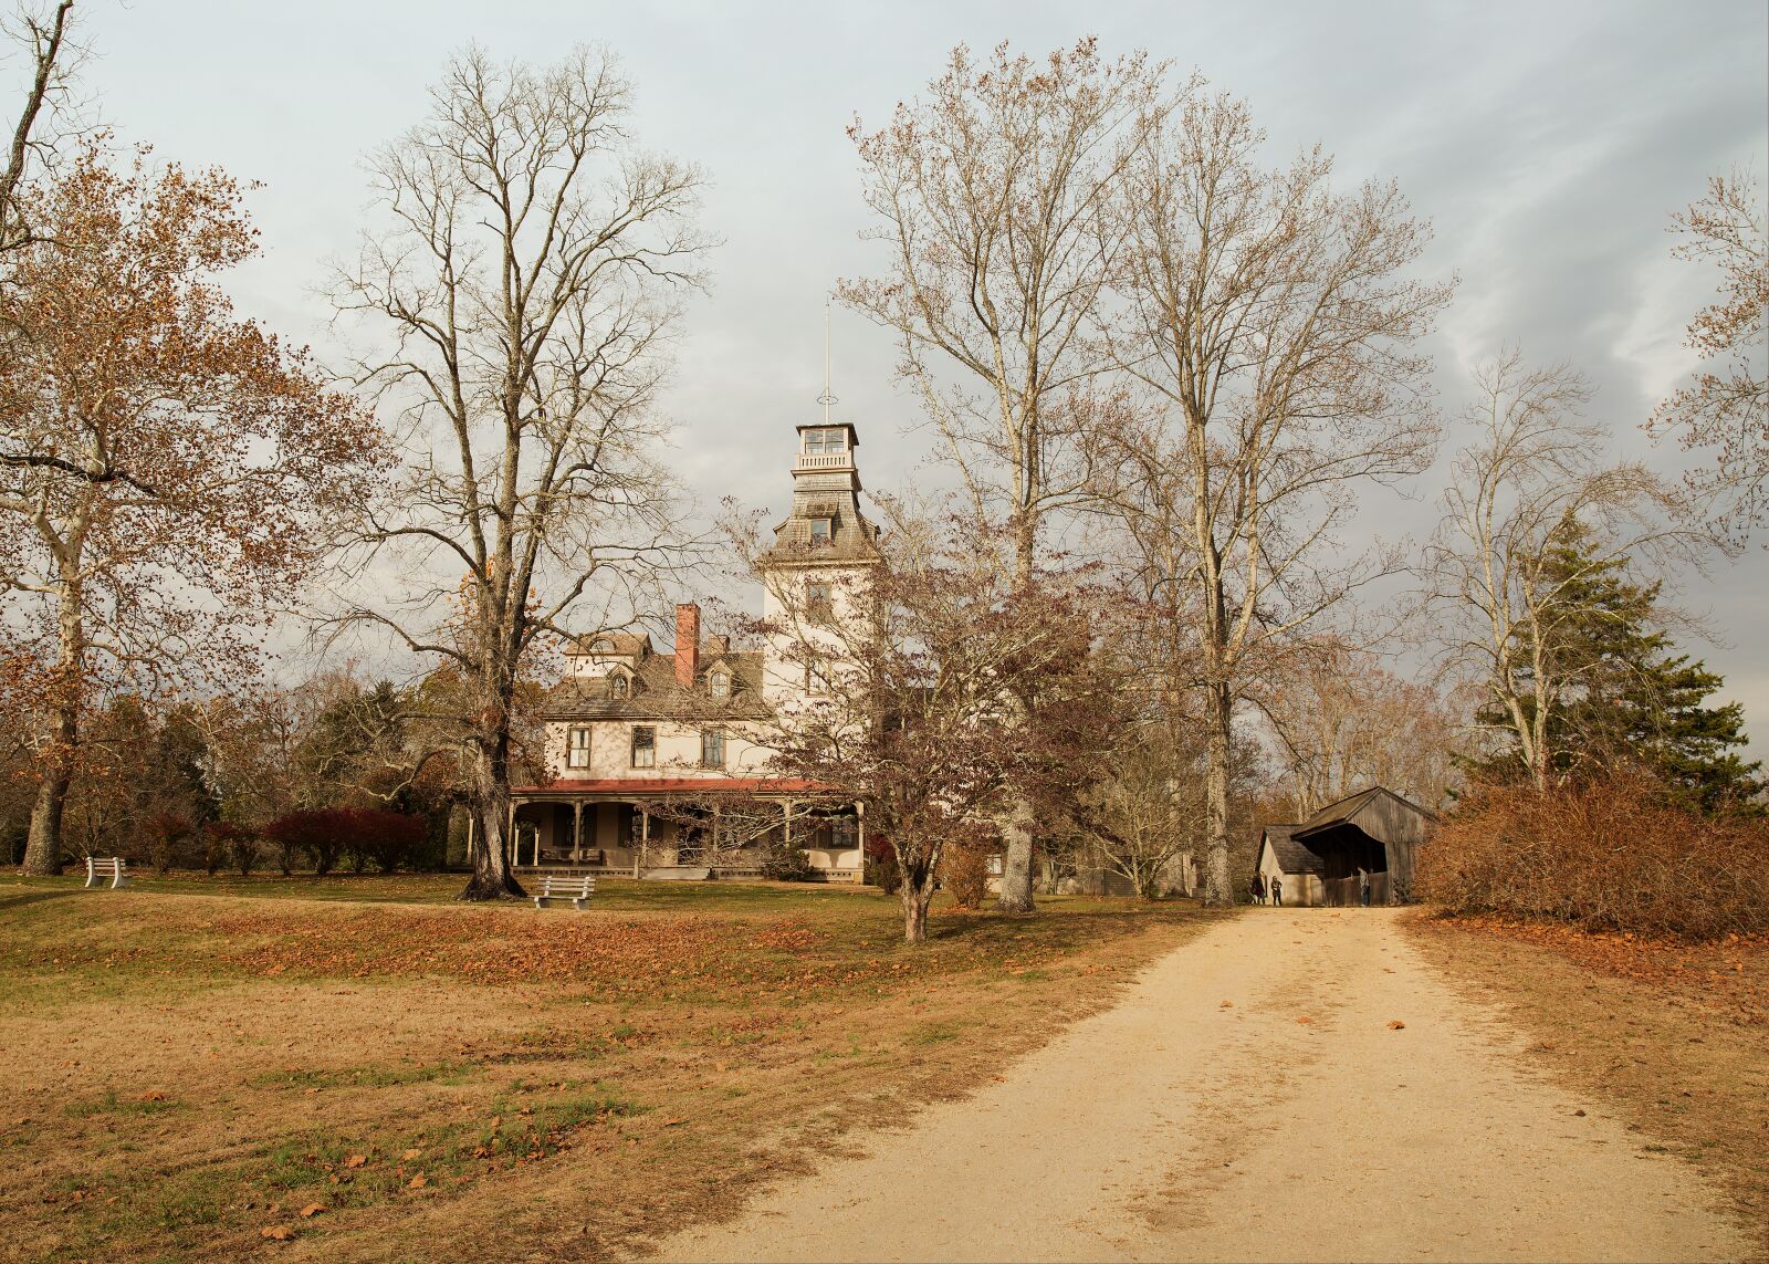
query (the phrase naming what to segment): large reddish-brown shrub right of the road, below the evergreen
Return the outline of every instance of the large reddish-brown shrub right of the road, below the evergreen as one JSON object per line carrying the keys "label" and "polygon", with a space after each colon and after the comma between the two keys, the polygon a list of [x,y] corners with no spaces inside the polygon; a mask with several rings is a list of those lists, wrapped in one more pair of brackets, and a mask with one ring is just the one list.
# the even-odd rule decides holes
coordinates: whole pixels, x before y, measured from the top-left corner
{"label": "large reddish-brown shrub right of the road, below the evergreen", "polygon": [[1635,772],[1548,793],[1474,786],[1417,876],[1454,913],[1686,938],[1769,929],[1769,825],[1686,811]]}

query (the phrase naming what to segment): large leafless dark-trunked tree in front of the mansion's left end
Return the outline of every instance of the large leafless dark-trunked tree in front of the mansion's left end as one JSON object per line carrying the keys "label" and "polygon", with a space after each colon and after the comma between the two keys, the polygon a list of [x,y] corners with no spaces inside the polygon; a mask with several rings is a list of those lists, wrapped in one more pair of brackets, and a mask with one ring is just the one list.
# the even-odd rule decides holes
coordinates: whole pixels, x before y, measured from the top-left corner
{"label": "large leafless dark-trunked tree in front of the mansion's left end", "polygon": [[568,620],[635,618],[685,556],[655,402],[676,296],[701,283],[702,173],[632,143],[607,51],[536,71],[469,50],[432,96],[375,158],[384,227],[338,283],[341,310],[382,322],[359,375],[407,453],[356,554],[387,595],[347,621],[458,671],[460,706],[414,719],[453,729],[483,841],[463,898],[497,899],[520,894],[524,666]]}

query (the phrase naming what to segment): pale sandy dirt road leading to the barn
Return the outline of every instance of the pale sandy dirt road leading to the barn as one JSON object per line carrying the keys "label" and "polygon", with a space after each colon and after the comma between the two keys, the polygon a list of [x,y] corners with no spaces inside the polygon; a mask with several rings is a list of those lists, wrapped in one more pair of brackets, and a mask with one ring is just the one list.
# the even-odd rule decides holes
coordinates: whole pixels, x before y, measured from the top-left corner
{"label": "pale sandy dirt road leading to the barn", "polygon": [[[1693,1170],[1530,1073],[1389,910],[1249,910],[670,1260],[1705,1260]],[[1390,1023],[1405,1027],[1394,1029]]]}

